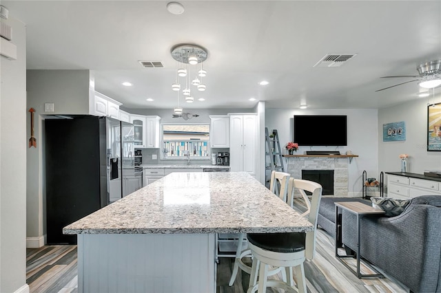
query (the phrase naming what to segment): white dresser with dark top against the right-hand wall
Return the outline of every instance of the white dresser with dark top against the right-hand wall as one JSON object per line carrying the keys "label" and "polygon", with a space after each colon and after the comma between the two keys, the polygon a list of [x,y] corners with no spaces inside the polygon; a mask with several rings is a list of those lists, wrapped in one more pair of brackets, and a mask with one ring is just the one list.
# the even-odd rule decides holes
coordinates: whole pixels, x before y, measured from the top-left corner
{"label": "white dresser with dark top against the right-hand wall", "polygon": [[441,195],[441,178],[416,173],[386,174],[387,197],[409,199],[420,195]]}

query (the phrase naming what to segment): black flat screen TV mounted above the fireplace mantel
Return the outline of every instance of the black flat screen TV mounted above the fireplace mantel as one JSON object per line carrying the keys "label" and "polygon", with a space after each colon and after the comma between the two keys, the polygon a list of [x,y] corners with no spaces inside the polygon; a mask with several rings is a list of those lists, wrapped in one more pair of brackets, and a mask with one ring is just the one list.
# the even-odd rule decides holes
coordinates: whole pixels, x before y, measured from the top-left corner
{"label": "black flat screen TV mounted above the fireplace mantel", "polygon": [[347,146],[347,116],[294,115],[294,142],[299,146]]}

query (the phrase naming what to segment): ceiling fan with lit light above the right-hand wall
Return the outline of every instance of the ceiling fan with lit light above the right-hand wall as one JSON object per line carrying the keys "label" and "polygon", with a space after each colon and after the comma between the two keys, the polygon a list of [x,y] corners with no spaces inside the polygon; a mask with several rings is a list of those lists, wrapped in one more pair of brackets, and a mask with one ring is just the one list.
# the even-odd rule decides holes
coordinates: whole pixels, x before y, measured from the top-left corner
{"label": "ceiling fan with lit light above the right-hand wall", "polygon": [[[398,83],[398,85],[404,85],[405,83],[413,83],[414,81],[420,81],[420,87],[431,89],[441,85],[441,60],[435,60],[430,62],[421,63],[416,67],[419,75],[398,75],[398,76],[382,76],[380,78],[400,78],[400,77],[413,77],[417,78],[409,80],[404,83]],[[398,85],[392,85],[390,87],[384,87],[384,89],[390,89],[391,87],[398,87]],[[383,91],[384,89],[378,89],[376,91]]]}

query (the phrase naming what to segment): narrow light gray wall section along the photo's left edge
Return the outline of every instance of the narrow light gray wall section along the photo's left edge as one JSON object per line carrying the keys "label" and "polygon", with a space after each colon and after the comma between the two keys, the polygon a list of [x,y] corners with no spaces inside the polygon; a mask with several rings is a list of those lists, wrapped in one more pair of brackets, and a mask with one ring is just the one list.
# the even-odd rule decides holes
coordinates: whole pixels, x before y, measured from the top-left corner
{"label": "narrow light gray wall section along the photo's left edge", "polygon": [[0,292],[26,292],[26,32],[12,12],[6,23],[17,61],[0,57]]}

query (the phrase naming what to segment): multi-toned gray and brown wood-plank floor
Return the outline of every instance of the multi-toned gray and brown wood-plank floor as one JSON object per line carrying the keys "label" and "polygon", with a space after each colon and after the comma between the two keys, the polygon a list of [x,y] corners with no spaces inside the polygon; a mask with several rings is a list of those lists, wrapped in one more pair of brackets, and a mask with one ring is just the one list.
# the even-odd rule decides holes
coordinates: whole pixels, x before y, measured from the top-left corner
{"label": "multi-toned gray and brown wood-plank floor", "polygon": [[[305,263],[308,292],[409,292],[400,283],[387,277],[358,279],[334,257],[334,239],[323,230],[318,230],[317,242],[316,257]],[[228,286],[233,263],[234,259],[220,259],[217,293],[246,292],[249,275],[244,272],[238,274],[232,287]],[[352,263],[355,265],[355,261]],[[78,292],[76,246],[28,248],[26,264],[26,281],[30,292]],[[365,267],[363,270],[364,273],[369,272]],[[278,291],[268,289],[267,292]]]}

